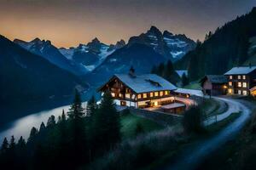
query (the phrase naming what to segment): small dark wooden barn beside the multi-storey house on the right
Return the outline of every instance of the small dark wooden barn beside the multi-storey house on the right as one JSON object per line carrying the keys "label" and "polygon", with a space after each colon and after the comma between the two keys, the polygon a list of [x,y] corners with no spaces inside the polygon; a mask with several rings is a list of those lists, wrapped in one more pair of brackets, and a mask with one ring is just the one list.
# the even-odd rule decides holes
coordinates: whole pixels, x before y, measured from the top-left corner
{"label": "small dark wooden barn beside the multi-storey house on the right", "polygon": [[224,75],[207,75],[200,81],[203,94],[224,95],[227,94],[228,79]]}

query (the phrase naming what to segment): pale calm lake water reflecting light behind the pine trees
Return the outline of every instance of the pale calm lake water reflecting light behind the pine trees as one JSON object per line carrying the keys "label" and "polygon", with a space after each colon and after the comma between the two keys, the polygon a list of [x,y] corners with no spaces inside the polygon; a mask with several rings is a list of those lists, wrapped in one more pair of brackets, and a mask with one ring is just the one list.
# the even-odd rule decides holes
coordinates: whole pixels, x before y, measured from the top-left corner
{"label": "pale calm lake water reflecting light behind the pine trees", "polygon": [[[86,102],[83,103],[83,106],[84,105],[86,105]],[[68,108],[69,105],[64,105],[49,111],[39,111],[32,115],[24,116],[15,122],[9,123],[9,126],[4,130],[0,129],[0,144],[2,144],[4,137],[9,139],[12,135],[15,136],[16,142],[20,139],[20,136],[27,139],[32,127],[39,128],[42,122],[46,125],[47,120],[51,115],[55,116],[55,119],[57,120],[58,116],[61,116],[62,109],[67,113]]]}

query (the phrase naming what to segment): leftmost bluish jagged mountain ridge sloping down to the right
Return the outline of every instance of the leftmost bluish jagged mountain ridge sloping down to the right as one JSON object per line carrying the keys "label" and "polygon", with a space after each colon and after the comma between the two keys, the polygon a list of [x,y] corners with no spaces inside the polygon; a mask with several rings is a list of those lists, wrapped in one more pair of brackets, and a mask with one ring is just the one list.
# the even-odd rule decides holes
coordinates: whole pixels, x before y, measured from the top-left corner
{"label": "leftmost bluish jagged mountain ridge sloping down to the right", "polygon": [[25,48],[33,54],[38,54],[39,56],[44,57],[44,59],[48,59],[52,64],[57,65],[61,69],[70,71],[75,75],[80,76],[87,72],[83,65],[76,64],[62,55],[59,49],[55,48],[49,40],[45,41],[36,38],[31,42],[25,42],[15,39],[14,42],[19,44],[20,47]]}

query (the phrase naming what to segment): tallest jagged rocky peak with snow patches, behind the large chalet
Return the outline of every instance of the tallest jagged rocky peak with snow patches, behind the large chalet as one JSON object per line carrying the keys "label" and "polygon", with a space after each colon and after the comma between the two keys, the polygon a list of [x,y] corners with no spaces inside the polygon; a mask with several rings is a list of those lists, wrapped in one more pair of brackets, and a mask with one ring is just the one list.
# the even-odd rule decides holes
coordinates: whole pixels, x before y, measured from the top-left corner
{"label": "tallest jagged rocky peak with snow patches, behind the large chalet", "polygon": [[166,59],[176,61],[184,54],[195,48],[195,42],[185,35],[173,35],[169,31],[163,33],[155,26],[139,36],[131,37],[128,45],[142,43],[154,48],[154,51],[165,56]]}

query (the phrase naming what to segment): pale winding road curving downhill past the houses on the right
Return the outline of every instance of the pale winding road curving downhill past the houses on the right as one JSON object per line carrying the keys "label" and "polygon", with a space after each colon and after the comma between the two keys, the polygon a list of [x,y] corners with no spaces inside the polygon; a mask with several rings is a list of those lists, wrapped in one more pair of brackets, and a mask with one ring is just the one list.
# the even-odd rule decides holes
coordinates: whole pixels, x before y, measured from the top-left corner
{"label": "pale winding road curving downhill past the houses on the right", "polygon": [[[227,127],[224,127],[219,133],[216,135],[201,140],[200,142],[194,144],[191,147],[183,150],[180,156],[177,157],[176,163],[172,165],[167,165],[161,169],[174,169],[174,170],[188,170],[195,169],[201,161],[204,160],[206,156],[209,156],[212,151],[218,150],[218,148],[225,144],[230,139],[234,139],[236,134],[241,130],[241,128],[248,121],[251,110],[246,106],[241,104],[241,102],[236,101],[235,99],[228,98],[218,98],[223,100],[229,105],[229,109],[225,111],[223,114],[220,114],[217,117],[217,120],[223,120],[227,116],[230,116],[231,113],[240,112],[241,116],[239,116],[234,122],[231,122]],[[205,122],[205,124],[212,124],[211,122]]]}

